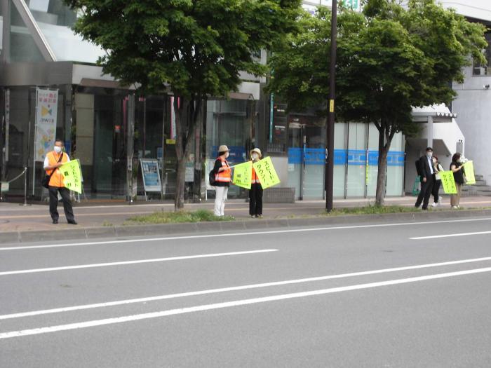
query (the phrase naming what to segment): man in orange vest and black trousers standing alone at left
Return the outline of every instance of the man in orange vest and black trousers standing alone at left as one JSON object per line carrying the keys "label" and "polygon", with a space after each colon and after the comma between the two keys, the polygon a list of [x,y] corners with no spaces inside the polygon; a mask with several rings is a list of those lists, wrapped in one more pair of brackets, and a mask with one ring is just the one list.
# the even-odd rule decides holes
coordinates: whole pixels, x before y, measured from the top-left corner
{"label": "man in orange vest and black trousers standing alone at left", "polygon": [[61,165],[70,161],[68,155],[62,151],[63,142],[61,139],[56,139],[55,147],[53,151],[48,152],[44,158],[43,168],[46,170],[46,175],[51,175],[49,181],[49,212],[51,214],[51,219],[53,219],[53,224],[58,224],[58,193],[63,200],[63,210],[65,210],[65,217],[67,217],[67,222],[72,225],[76,225],[74,212],[72,209],[72,201],[70,200],[70,192],[65,188],[63,184],[63,175],[58,170]]}

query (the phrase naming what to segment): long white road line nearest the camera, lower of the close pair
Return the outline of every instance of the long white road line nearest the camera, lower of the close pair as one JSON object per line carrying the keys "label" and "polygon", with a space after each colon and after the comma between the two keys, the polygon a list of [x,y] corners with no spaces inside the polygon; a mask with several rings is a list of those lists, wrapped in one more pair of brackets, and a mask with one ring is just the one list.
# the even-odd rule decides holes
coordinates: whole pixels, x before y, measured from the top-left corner
{"label": "long white road line nearest the camera, lower of the close pair", "polygon": [[92,320],[92,321],[87,321],[87,322],[76,322],[76,323],[70,323],[67,325],[39,327],[39,328],[34,328],[34,329],[22,329],[20,331],[11,331],[11,332],[0,333],[0,339],[11,339],[13,337],[20,337],[20,336],[29,336],[29,335],[36,335],[36,334],[48,334],[50,332],[68,331],[70,329],[82,329],[82,328],[87,328],[87,327],[113,325],[115,323],[132,322],[132,321],[137,321],[137,320],[147,320],[150,318],[166,317],[168,315],[180,315],[180,314],[184,314],[184,313],[211,311],[213,309],[230,308],[230,307],[234,307],[234,306],[246,306],[246,305],[250,305],[250,304],[265,303],[268,301],[278,301],[278,300],[285,300],[285,299],[313,297],[316,295],[332,294],[335,292],[347,292],[347,291],[351,291],[351,290],[369,289],[371,287],[400,285],[400,284],[406,284],[409,282],[436,280],[439,278],[450,278],[450,277],[455,277],[455,276],[471,275],[474,273],[484,273],[484,272],[490,272],[490,271],[491,271],[491,267],[476,268],[476,269],[467,270],[467,271],[438,273],[436,275],[426,275],[426,276],[419,276],[419,277],[415,277],[415,278],[401,278],[401,279],[397,279],[397,280],[388,280],[388,281],[382,281],[382,282],[370,282],[367,284],[358,284],[358,285],[343,286],[343,287],[331,287],[329,289],[318,289],[318,290],[312,290],[309,292],[294,292],[294,293],[290,293],[290,294],[273,295],[271,297],[242,299],[242,300],[236,300],[236,301],[227,301],[224,303],[206,304],[206,305],[202,305],[202,306],[193,306],[193,307],[187,307],[187,308],[177,308],[177,309],[170,309],[168,311],[159,311],[159,312],[152,312],[152,313],[141,313],[141,314],[135,314],[135,315],[126,315],[123,317],[105,318],[103,320]]}

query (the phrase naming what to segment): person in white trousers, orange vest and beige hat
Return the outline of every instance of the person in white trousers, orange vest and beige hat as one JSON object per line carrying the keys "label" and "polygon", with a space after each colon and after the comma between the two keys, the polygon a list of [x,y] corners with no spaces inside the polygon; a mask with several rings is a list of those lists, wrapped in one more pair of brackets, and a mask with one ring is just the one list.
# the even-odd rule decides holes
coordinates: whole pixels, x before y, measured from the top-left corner
{"label": "person in white trousers, orange vest and beige hat", "polygon": [[215,216],[224,216],[225,200],[229,192],[231,182],[231,168],[227,162],[229,147],[222,144],[218,147],[218,157],[213,167],[215,173]]}

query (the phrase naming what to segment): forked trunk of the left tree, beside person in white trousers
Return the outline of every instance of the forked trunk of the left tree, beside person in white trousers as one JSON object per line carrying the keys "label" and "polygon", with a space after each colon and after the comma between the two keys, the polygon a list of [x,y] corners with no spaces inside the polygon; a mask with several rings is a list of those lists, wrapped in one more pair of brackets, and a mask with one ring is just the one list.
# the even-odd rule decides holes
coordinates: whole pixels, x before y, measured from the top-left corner
{"label": "forked trunk of the left tree, beside person in white trousers", "polygon": [[[184,209],[184,187],[186,179],[186,163],[196,134],[196,121],[201,109],[201,96],[188,100],[183,97],[174,98],[175,111],[175,154],[177,156],[177,177],[175,185],[174,210]],[[199,153],[198,153],[199,154]]]}

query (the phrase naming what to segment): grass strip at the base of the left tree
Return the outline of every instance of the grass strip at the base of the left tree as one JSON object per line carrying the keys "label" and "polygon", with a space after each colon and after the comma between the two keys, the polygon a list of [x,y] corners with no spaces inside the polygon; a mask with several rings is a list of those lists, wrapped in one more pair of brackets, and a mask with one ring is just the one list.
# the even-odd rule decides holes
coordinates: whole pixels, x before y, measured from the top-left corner
{"label": "grass strip at the base of the left tree", "polygon": [[216,222],[231,221],[232,216],[215,216],[208,210],[180,211],[180,212],[154,212],[152,214],[142,214],[130,217],[125,224],[178,224],[182,222]]}

